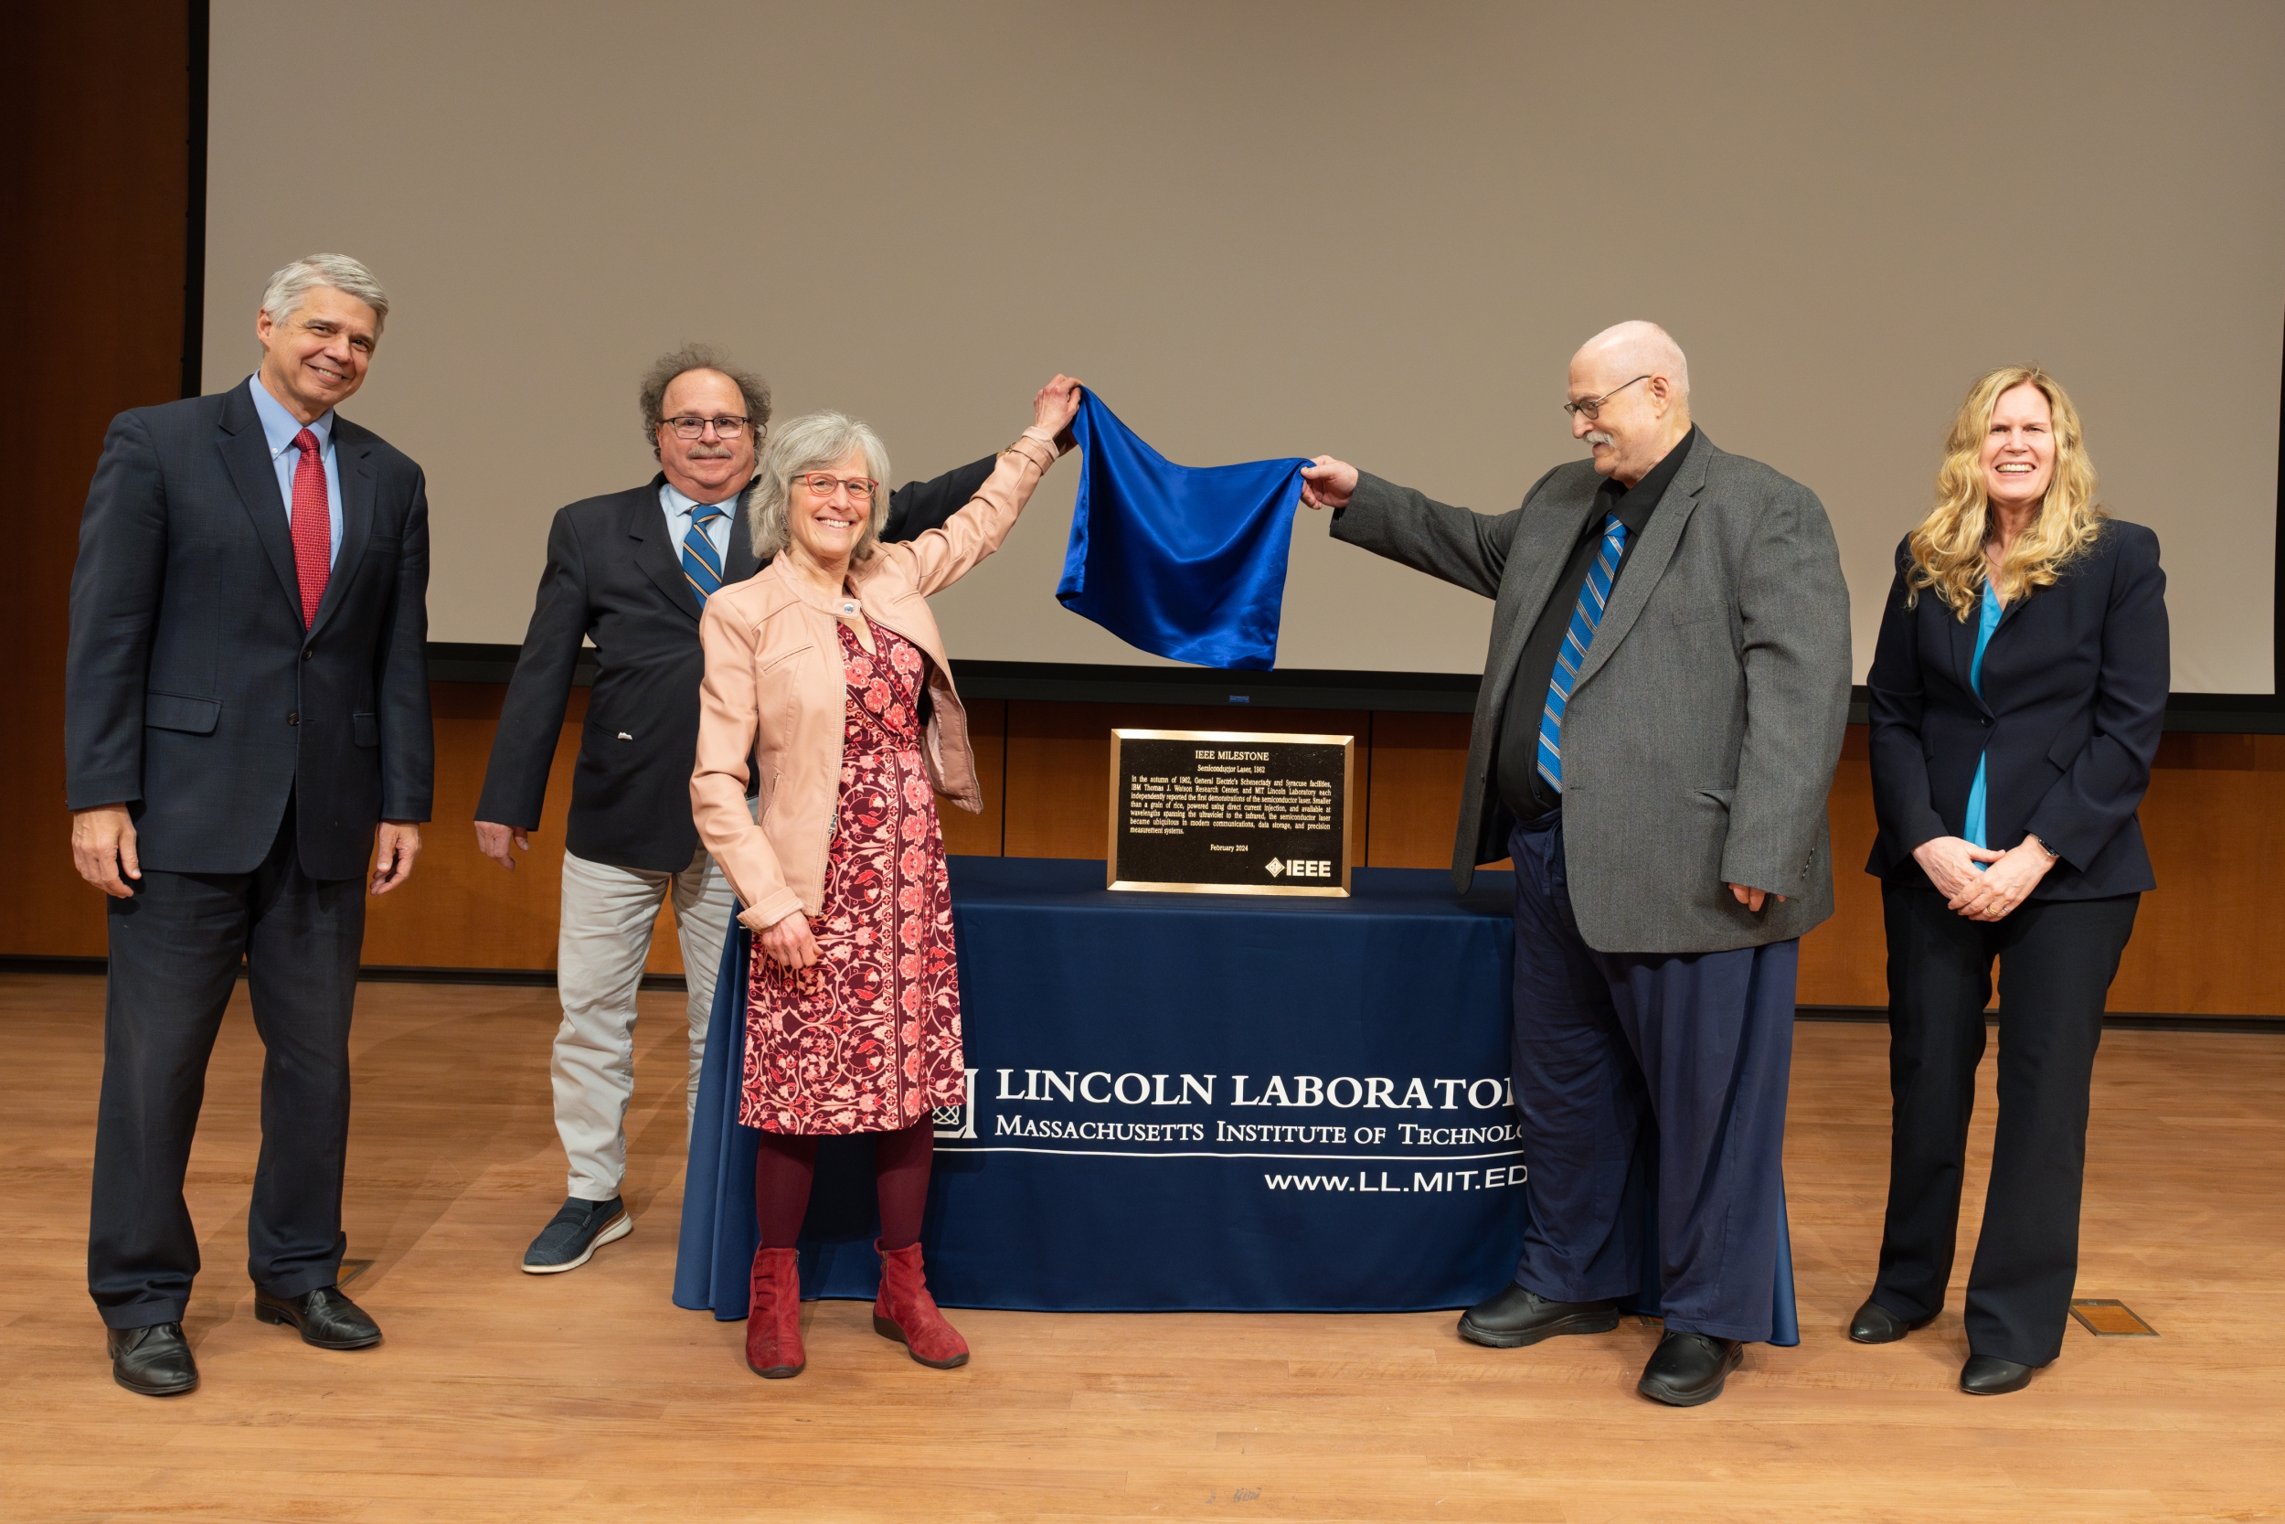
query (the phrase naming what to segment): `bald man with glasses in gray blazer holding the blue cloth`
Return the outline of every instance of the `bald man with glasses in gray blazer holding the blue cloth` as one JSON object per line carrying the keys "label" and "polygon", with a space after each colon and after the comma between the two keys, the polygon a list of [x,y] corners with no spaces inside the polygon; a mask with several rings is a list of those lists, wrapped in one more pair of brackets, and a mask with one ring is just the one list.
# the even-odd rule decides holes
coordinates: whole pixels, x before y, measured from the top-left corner
{"label": "bald man with glasses in gray blazer holding the blue cloth", "polygon": [[[1691,425],[1650,322],[1570,361],[1593,462],[1474,514],[1332,457],[1332,535],[1494,599],[1453,882],[1515,859],[1515,1101],[1531,1227],[1460,1318],[1513,1348],[1618,1325],[1657,1188],[1666,1334],[1636,1389],[1709,1403],[1778,1332],[1801,935],[1833,914],[1826,791],[1849,587],[1817,496]],[[1785,1323],[1791,1323],[1787,1312]]]}

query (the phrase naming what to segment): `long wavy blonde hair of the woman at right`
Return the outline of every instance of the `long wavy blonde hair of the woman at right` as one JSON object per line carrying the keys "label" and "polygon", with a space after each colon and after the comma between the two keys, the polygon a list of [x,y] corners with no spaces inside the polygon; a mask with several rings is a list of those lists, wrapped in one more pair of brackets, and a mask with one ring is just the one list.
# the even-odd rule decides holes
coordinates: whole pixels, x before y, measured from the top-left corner
{"label": "long wavy blonde hair of the woman at right", "polygon": [[2063,384],[2038,366],[2002,366],[1967,388],[1951,436],[1945,439],[1945,464],[1935,473],[1935,507],[1906,542],[1913,564],[1903,576],[1906,608],[1919,603],[1919,589],[1935,596],[1961,621],[1983,599],[1990,567],[1983,542],[1990,539],[1990,503],[1983,496],[1983,441],[1993,430],[1999,398],[2018,386],[2036,386],[2054,416],[2054,478],[2038,514],[2015,537],[2006,564],[1999,567],[1999,596],[2009,603],[2034,587],[2052,587],[2075,558],[2084,555],[2102,532],[2102,507],[2095,503],[2095,464],[2086,459],[2086,436],[2079,432],[2079,409],[2070,404]]}

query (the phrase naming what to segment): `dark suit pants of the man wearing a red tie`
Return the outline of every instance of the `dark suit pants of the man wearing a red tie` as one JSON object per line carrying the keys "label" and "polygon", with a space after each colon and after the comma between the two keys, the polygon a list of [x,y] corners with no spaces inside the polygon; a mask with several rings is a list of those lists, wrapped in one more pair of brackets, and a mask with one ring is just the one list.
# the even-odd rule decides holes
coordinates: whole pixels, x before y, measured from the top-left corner
{"label": "dark suit pants of the man wearing a red tie", "polygon": [[302,871],[292,804],[254,873],[144,868],[142,893],[110,903],[87,1232],[87,1289],[110,1328],[178,1323],[190,1302],[199,1234],[183,1174],[240,960],[267,1049],[247,1273],[272,1296],[334,1284],[363,939],[363,880]]}

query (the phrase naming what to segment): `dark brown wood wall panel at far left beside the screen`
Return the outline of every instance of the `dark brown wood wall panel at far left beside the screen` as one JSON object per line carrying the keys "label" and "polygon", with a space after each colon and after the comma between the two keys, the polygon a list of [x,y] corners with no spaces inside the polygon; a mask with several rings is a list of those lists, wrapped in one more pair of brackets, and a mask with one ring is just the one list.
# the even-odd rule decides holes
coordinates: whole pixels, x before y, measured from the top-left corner
{"label": "dark brown wood wall panel at far left beside the screen", "polygon": [[71,868],[64,637],[103,427],[183,382],[190,7],[25,5],[0,89],[0,951],[103,953]]}

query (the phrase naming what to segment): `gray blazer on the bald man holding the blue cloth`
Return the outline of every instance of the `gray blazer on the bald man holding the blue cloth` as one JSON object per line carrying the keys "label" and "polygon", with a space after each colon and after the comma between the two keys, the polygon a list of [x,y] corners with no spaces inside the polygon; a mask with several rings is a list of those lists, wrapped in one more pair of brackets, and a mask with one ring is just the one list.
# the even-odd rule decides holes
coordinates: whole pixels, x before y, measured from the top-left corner
{"label": "gray blazer on the bald man holding the blue cloth", "polygon": [[[1540,608],[1595,507],[1593,462],[1476,514],[1360,473],[1334,539],[1494,599],[1451,877],[1508,855],[1499,720]],[[1718,953],[1833,914],[1826,791],[1849,722],[1849,585],[1801,482],[1698,432],[1627,560],[1563,715],[1563,845],[1604,953]],[[1759,914],[1723,884],[1782,893]]]}

